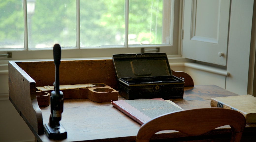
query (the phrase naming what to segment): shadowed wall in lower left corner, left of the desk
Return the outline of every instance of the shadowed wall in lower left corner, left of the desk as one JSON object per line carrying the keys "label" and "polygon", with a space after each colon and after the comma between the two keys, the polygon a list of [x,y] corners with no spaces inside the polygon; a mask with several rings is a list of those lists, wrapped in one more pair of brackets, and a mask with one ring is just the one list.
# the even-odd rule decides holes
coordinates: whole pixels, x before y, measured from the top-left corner
{"label": "shadowed wall in lower left corner, left of the desk", "polygon": [[35,137],[8,98],[8,64],[0,72],[0,141],[32,142]]}

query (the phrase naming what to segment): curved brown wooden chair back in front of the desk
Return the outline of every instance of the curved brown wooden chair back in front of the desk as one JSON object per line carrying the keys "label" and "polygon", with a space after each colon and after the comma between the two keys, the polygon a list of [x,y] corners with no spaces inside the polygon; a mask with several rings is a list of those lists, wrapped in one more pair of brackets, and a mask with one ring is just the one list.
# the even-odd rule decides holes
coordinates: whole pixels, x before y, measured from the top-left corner
{"label": "curved brown wooden chair back in front of the desk", "polygon": [[240,141],[246,119],[240,112],[225,108],[175,111],[144,123],[137,133],[136,141],[148,142],[156,132],[162,130],[176,130],[190,136],[196,136],[224,125],[231,126],[231,141]]}

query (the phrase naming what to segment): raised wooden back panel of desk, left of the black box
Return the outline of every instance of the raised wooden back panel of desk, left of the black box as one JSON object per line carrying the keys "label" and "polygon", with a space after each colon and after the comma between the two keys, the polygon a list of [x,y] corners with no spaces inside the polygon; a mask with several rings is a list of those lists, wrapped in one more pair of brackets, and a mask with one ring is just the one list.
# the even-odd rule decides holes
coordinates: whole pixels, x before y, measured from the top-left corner
{"label": "raised wooden back panel of desk, left of the black box", "polygon": [[[52,85],[55,81],[53,61],[17,62],[17,64],[36,81],[37,86]],[[61,61],[60,84],[105,83],[118,89],[113,61],[107,60],[69,60]]]}

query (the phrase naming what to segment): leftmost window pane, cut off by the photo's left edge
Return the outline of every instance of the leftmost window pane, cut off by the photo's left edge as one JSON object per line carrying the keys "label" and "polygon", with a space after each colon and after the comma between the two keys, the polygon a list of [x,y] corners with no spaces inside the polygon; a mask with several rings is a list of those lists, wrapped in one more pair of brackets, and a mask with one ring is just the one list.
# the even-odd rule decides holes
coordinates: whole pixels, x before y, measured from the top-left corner
{"label": "leftmost window pane, cut off by the photo's left edge", "polygon": [[0,0],[0,49],[24,48],[24,16],[21,0]]}

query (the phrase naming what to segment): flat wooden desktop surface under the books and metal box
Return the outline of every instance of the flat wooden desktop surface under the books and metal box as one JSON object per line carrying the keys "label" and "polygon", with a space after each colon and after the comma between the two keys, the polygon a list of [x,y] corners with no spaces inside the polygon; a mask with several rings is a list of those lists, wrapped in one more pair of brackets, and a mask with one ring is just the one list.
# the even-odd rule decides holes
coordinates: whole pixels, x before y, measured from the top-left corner
{"label": "flat wooden desktop surface under the books and metal box", "polygon": [[[214,85],[186,87],[183,99],[173,99],[176,104],[184,109],[210,107],[212,97],[234,96],[232,92]],[[119,100],[122,100],[119,97]],[[48,123],[50,106],[41,108],[43,122]],[[64,101],[64,111],[60,123],[65,127],[68,138],[61,141],[135,141],[140,124],[133,121],[122,112],[112,107],[111,103],[95,103],[88,99],[69,99]],[[28,124],[29,125],[29,124]],[[207,135],[187,137],[177,131],[162,131],[153,139],[171,138],[173,140],[205,139],[229,137],[229,126],[222,126]],[[248,138],[256,132],[256,124],[247,124],[244,137]],[[38,141],[52,141],[48,137],[38,135]],[[209,137],[208,137],[209,135]],[[210,137],[211,138],[211,137]]]}

